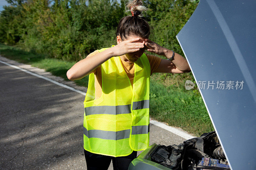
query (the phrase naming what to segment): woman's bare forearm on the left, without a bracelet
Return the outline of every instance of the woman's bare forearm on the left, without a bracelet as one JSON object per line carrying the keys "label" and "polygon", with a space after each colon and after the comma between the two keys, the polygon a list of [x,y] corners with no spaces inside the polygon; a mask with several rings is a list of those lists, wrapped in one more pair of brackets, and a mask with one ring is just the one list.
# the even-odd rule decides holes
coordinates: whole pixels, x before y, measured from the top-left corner
{"label": "woman's bare forearm on the left, without a bracelet", "polygon": [[85,59],[74,64],[68,71],[67,77],[69,80],[79,80],[88,74],[92,73],[102,63],[113,57],[113,52],[110,49],[104,50],[98,54],[86,57]]}

